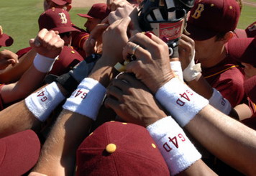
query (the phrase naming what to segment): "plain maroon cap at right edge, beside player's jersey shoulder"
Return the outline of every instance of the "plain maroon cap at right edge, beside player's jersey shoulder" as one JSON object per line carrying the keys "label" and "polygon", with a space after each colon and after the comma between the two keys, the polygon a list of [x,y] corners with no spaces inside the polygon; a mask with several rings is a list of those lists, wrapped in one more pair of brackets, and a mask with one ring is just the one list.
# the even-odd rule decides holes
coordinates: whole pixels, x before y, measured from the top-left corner
{"label": "plain maroon cap at right edge, beside player's jersey shoulder", "polygon": [[227,52],[239,62],[256,65],[256,37],[232,38],[232,40],[227,42]]}

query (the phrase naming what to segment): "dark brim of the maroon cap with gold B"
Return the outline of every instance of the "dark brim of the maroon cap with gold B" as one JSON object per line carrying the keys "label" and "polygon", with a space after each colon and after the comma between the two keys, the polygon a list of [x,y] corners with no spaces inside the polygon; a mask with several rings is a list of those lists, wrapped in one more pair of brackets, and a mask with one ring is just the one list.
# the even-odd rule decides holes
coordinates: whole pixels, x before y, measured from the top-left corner
{"label": "dark brim of the maroon cap with gold B", "polygon": [[208,40],[211,37],[214,37],[218,32],[209,31],[208,29],[202,29],[195,27],[193,24],[187,22],[186,31],[189,33],[188,37],[191,37],[193,40]]}

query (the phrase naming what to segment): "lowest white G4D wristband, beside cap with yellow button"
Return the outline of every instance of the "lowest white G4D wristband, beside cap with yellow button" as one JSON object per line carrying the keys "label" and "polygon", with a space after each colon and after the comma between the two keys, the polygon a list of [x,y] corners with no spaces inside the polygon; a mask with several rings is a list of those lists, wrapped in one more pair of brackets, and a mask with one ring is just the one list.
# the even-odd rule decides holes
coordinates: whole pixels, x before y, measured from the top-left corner
{"label": "lowest white G4D wristband, beside cap with yellow button", "polygon": [[201,154],[193,146],[183,129],[170,116],[147,126],[147,131],[160,149],[171,175],[186,170]]}

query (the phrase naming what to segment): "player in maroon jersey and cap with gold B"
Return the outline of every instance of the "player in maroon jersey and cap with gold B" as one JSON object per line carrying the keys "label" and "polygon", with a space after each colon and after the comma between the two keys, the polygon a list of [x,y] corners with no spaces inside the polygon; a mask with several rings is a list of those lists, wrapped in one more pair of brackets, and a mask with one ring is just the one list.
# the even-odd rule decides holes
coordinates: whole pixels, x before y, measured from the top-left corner
{"label": "player in maroon jersey and cap with gold B", "polygon": [[204,78],[232,107],[244,99],[244,75],[224,46],[233,37],[239,14],[235,0],[196,1],[186,27],[188,37],[194,41],[195,60],[201,63]]}

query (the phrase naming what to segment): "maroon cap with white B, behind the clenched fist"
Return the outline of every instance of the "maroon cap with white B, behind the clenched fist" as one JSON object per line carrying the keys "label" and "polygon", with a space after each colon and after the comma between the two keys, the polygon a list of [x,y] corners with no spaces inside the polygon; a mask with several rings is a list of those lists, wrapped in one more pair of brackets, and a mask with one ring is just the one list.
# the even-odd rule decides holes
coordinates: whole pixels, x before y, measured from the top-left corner
{"label": "maroon cap with white B, behind the clenched fist", "polygon": [[58,31],[60,34],[64,32],[78,31],[72,27],[70,15],[64,9],[48,9],[43,12],[38,19],[39,29],[46,28],[48,30]]}

